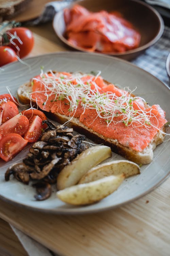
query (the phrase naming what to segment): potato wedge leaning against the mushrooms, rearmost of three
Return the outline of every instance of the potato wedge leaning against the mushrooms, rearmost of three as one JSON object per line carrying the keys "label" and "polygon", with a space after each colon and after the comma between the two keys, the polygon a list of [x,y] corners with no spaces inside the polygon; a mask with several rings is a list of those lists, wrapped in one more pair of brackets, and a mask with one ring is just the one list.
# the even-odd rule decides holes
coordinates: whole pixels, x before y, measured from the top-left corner
{"label": "potato wedge leaning against the mushrooms, rearmost of three", "polygon": [[60,190],[77,184],[89,169],[111,156],[110,147],[99,145],[88,148],[58,174],[57,189]]}

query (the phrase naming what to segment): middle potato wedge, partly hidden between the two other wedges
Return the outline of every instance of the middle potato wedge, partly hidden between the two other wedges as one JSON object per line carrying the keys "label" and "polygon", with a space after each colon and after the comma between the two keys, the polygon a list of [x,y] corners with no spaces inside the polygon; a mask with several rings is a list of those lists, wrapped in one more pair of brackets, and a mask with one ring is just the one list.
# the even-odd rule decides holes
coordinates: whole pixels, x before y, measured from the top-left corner
{"label": "middle potato wedge, partly hidden between the two other wedges", "polygon": [[98,165],[89,170],[79,181],[79,184],[88,183],[102,179],[109,175],[118,175],[123,173],[125,177],[140,174],[139,166],[128,160],[116,160]]}

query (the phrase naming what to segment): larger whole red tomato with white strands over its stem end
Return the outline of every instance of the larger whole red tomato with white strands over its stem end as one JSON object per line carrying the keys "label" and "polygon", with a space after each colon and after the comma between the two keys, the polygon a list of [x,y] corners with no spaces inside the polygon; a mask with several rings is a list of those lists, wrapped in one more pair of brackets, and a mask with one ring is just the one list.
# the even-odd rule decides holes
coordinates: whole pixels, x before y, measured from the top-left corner
{"label": "larger whole red tomato with white strands over its stem end", "polygon": [[11,28],[5,33],[7,34],[9,40],[13,37],[13,35],[19,38],[13,39],[12,41],[14,44],[10,42],[8,46],[13,48],[20,58],[25,57],[31,52],[34,46],[34,37],[31,30],[28,28],[17,27]]}

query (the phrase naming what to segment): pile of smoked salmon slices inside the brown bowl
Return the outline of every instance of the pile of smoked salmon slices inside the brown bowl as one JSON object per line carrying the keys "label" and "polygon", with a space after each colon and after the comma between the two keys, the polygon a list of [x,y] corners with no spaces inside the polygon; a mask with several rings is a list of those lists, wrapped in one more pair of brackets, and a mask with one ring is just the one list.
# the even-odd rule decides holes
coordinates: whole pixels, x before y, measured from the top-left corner
{"label": "pile of smoked salmon slices inside the brown bowl", "polygon": [[64,10],[65,36],[74,46],[102,53],[124,52],[139,46],[141,35],[118,12],[89,12],[80,5]]}

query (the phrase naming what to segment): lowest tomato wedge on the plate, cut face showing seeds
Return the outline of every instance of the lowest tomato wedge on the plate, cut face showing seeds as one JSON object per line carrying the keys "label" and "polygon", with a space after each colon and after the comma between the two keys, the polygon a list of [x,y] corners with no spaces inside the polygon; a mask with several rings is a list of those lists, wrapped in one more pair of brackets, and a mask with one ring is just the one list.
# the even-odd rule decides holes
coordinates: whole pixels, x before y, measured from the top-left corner
{"label": "lowest tomato wedge on the plate, cut face showing seeds", "polygon": [[27,143],[28,141],[24,140],[19,134],[7,134],[0,140],[0,157],[6,162],[11,160]]}

